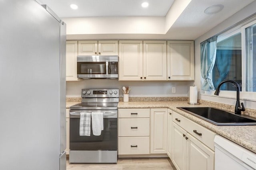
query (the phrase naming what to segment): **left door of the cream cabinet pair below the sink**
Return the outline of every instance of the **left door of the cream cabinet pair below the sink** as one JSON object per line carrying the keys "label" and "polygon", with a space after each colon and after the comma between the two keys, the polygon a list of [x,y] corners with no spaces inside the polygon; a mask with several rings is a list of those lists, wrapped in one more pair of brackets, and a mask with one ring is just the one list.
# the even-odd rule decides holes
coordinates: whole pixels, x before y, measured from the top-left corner
{"label": "left door of the cream cabinet pair below the sink", "polygon": [[187,140],[185,139],[185,137],[187,132],[174,122],[172,123],[172,125],[172,162],[174,166],[177,168],[177,170],[185,170],[187,154]]}

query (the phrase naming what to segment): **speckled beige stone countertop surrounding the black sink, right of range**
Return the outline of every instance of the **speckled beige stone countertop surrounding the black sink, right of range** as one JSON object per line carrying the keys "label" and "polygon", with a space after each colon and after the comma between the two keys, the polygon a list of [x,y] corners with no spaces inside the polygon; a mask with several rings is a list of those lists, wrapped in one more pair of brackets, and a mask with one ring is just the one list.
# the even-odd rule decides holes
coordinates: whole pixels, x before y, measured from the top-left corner
{"label": "speckled beige stone countertop surrounding the black sink, right of range", "polygon": [[136,109],[136,108],[169,108],[177,113],[180,113],[184,117],[218,133],[223,137],[245,147],[256,153],[256,125],[247,126],[216,126],[212,123],[204,121],[194,115],[186,113],[176,107],[217,107],[220,109],[228,110],[229,108],[223,108],[223,106],[200,104],[200,105],[190,105],[187,101],[163,101],[163,102],[119,102],[118,109]]}

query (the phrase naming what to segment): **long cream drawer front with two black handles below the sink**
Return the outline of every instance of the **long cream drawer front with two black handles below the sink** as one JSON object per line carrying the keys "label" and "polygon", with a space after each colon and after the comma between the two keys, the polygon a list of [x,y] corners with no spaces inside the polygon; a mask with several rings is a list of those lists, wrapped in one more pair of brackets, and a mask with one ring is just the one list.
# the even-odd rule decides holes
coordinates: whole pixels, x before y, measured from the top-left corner
{"label": "long cream drawer front with two black handles below the sink", "polygon": [[194,136],[196,139],[204,143],[210,149],[214,150],[214,137],[217,135],[213,131],[210,131],[206,127],[199,125],[198,123],[187,119],[186,117],[173,112],[173,121],[185,129],[188,133]]}

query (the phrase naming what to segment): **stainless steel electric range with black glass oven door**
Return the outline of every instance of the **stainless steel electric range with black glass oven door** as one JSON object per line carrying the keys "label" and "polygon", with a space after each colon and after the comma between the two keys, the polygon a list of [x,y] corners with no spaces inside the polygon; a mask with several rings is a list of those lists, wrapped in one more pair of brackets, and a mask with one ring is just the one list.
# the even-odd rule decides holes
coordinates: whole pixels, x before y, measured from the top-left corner
{"label": "stainless steel electric range with black glass oven door", "polygon": [[[70,163],[117,162],[118,89],[82,89],[82,103],[70,107]],[[102,112],[104,130],[100,136],[80,136],[80,113]],[[92,126],[92,123],[91,123]]]}

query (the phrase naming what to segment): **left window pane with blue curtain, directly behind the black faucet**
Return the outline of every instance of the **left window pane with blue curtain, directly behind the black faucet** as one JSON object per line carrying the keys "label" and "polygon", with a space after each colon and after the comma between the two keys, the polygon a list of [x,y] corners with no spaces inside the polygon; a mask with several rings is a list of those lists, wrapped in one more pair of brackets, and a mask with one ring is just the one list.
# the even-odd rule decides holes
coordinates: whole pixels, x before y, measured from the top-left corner
{"label": "left window pane with blue curtain, directly behind the black faucet", "polygon": [[[217,38],[216,59],[212,69],[212,82],[216,88],[223,80],[234,80],[242,91],[242,43],[241,33],[231,33]],[[227,38],[226,38],[227,37]],[[225,83],[220,90],[236,90],[231,83]]]}

